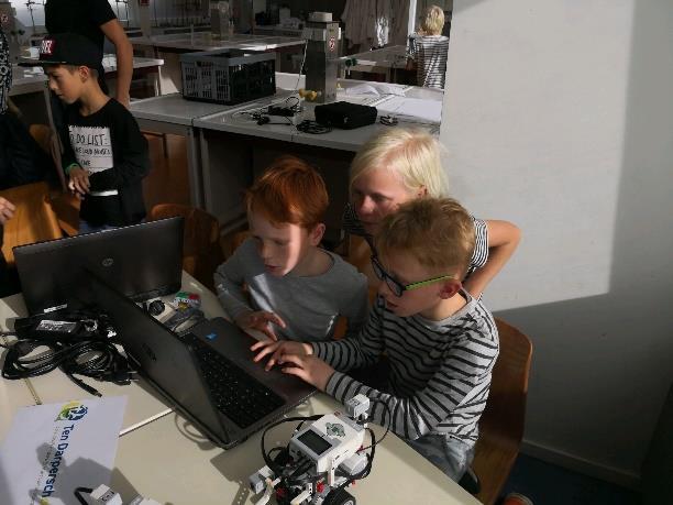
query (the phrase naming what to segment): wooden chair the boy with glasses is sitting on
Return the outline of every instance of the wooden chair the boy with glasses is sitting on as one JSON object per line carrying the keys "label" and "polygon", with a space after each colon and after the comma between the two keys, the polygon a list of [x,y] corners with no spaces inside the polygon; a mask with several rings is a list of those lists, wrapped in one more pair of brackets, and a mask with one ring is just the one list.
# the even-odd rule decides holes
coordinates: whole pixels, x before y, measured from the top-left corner
{"label": "wooden chair the boy with glasses is sitting on", "polygon": [[526,418],[532,344],[528,337],[496,319],[500,354],[493,370],[490,394],[479,420],[479,439],[472,469],[479,479],[476,498],[496,503],[519,453]]}

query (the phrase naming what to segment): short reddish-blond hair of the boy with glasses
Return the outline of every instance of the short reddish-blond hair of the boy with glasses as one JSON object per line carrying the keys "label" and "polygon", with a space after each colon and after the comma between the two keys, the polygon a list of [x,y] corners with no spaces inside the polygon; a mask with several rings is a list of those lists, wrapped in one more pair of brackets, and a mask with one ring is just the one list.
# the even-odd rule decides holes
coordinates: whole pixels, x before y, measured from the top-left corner
{"label": "short reddish-blond hair of the boy with glasses", "polygon": [[378,254],[404,252],[438,273],[463,278],[474,252],[472,216],[453,198],[417,198],[387,216],[375,238]]}

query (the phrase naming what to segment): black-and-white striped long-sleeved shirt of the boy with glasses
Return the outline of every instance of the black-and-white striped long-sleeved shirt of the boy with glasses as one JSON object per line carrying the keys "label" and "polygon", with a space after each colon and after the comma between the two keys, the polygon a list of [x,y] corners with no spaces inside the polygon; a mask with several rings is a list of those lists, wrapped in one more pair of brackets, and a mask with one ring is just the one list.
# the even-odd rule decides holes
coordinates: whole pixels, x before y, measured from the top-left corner
{"label": "black-and-white striped long-sleeved shirt of the boy with glasses", "polygon": [[[444,433],[474,443],[498,355],[498,331],[482,303],[462,295],[467,304],[442,321],[397,317],[378,297],[358,337],[312,343],[313,353],[336,370],[326,392],[342,403],[361,393],[382,400],[391,414],[390,430],[406,439]],[[374,364],[384,351],[390,362],[387,392],[344,373]],[[373,403],[371,421],[386,426],[387,411]]]}

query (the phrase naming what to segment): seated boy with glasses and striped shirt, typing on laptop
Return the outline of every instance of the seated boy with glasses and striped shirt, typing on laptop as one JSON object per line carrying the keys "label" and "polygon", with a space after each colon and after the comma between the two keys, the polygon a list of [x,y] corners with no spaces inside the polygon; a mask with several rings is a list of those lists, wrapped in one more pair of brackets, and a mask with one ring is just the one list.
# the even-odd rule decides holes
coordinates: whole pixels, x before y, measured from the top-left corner
{"label": "seated boy with glasses and striped shirt, typing on laptop", "polygon": [[[465,292],[474,223],[450,198],[421,198],[388,216],[372,259],[382,279],[360,336],[338,342],[258,342],[255,361],[347,402],[365,394],[369,418],[386,426],[456,482],[472,462],[478,420],[498,355],[490,312]],[[390,365],[385,391],[345,372],[372,366],[383,353]]]}

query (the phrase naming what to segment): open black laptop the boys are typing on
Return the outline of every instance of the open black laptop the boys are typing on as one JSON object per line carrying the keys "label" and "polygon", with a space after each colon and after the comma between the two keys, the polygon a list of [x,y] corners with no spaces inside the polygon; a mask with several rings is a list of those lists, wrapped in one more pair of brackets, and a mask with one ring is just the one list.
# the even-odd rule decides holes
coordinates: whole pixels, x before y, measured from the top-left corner
{"label": "open black laptop the boys are typing on", "polygon": [[252,361],[256,340],[214,318],[178,337],[90,274],[93,301],[108,312],[140,372],[218,446],[229,449],[308,398],[304,381]]}

